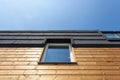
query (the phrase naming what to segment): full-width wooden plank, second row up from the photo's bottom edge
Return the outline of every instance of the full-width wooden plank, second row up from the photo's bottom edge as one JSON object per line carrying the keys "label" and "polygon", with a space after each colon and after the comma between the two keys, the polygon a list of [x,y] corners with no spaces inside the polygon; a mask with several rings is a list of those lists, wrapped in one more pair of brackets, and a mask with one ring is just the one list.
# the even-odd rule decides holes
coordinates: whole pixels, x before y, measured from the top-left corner
{"label": "full-width wooden plank, second row up from the photo's bottom edge", "polygon": [[0,70],[0,75],[120,75],[120,70]]}

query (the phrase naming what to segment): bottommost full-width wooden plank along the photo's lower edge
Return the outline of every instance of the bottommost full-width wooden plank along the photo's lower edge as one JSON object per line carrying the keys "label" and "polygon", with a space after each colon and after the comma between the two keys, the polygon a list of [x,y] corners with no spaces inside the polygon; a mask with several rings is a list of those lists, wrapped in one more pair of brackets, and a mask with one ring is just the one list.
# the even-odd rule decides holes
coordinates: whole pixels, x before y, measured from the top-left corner
{"label": "bottommost full-width wooden plank along the photo's lower edge", "polygon": [[21,76],[0,76],[0,80],[120,80],[120,76],[105,75],[21,75]]}

